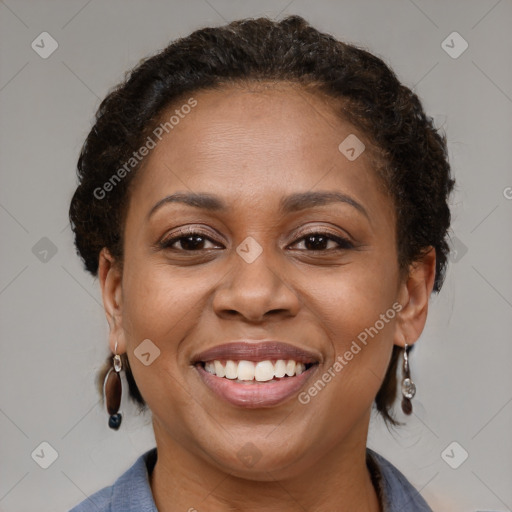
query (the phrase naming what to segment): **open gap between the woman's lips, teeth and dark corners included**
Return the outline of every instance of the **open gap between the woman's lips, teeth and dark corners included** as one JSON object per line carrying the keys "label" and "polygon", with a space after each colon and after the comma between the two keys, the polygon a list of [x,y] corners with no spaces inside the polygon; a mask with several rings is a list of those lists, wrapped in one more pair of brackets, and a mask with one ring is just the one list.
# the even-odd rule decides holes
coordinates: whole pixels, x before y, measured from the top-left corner
{"label": "open gap between the woman's lips, teeth and dark corners included", "polygon": [[293,359],[267,359],[263,361],[220,360],[197,363],[206,372],[216,377],[239,384],[277,382],[307,372],[316,363],[303,363]]}

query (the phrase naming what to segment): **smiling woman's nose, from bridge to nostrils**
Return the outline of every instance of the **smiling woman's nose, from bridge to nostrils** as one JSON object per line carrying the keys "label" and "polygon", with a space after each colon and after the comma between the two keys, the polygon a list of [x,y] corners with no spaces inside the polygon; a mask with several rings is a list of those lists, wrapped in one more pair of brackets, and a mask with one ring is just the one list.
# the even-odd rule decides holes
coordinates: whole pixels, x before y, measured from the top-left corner
{"label": "smiling woman's nose, from bridge to nostrils", "polygon": [[271,258],[266,257],[269,252],[270,249],[265,249],[251,263],[236,253],[233,255],[231,270],[219,283],[213,298],[217,315],[241,317],[249,322],[297,315],[299,297],[275,261],[271,265]]}

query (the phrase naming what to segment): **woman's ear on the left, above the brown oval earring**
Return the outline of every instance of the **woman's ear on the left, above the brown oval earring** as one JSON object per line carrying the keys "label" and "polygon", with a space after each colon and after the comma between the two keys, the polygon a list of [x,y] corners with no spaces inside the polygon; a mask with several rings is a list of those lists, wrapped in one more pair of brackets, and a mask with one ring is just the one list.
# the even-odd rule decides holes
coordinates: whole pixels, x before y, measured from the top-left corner
{"label": "woman's ear on the left, above the brown oval earring", "polygon": [[110,327],[110,350],[114,353],[117,341],[117,353],[122,354],[126,352],[126,340],[122,328],[122,272],[106,247],[101,250],[99,255],[98,277],[101,284],[103,307]]}

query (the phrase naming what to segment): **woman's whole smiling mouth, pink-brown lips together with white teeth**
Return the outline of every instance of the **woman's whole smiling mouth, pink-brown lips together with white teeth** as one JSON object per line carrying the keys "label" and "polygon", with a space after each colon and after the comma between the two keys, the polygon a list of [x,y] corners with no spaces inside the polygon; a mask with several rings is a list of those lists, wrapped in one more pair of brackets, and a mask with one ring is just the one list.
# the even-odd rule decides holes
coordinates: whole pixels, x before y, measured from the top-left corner
{"label": "woman's whole smiling mouth, pink-brown lips together with white teeth", "polygon": [[237,342],[192,361],[217,397],[239,407],[272,407],[290,399],[315,372],[321,356],[282,342]]}

